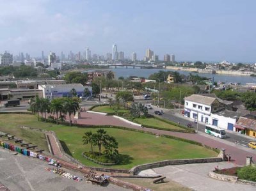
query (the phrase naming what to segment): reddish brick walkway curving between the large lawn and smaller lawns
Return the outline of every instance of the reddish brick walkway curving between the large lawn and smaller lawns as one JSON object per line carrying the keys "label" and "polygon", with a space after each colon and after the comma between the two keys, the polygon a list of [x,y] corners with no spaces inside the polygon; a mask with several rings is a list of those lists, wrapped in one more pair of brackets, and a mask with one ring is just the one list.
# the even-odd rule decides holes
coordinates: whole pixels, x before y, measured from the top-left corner
{"label": "reddish brick walkway curving between the large lawn and smaller lawns", "polygon": [[[69,118],[67,116],[67,120],[68,119]],[[74,116],[71,116],[71,119],[74,121]],[[239,164],[239,165],[245,164],[246,156],[252,156],[253,160],[256,161],[256,155],[253,153],[244,151],[243,149],[239,149],[236,146],[230,146],[223,142],[220,142],[214,139],[209,139],[200,134],[186,134],[186,133],[179,133],[179,132],[168,132],[164,130],[156,130],[152,128],[141,128],[139,126],[126,123],[120,119],[113,118],[113,116],[104,116],[102,114],[94,114],[94,113],[88,113],[88,112],[81,112],[81,119],[76,119],[76,123],[85,124],[85,125],[125,126],[127,128],[143,130],[145,132],[152,132],[154,134],[159,134],[159,135],[163,135],[163,134],[173,135],[175,137],[180,137],[180,138],[189,139],[192,141],[201,142],[202,144],[205,144],[206,146],[210,146],[211,148],[225,148],[226,153],[230,154],[232,157],[231,159],[235,160],[236,164]]]}

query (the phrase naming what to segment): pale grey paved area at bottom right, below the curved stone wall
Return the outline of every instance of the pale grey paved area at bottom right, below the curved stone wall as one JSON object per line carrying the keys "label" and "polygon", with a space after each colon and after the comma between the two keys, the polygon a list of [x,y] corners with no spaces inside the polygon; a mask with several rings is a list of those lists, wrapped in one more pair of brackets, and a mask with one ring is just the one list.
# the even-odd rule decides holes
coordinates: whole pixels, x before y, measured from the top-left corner
{"label": "pale grey paved area at bottom right, below the curved stone wall", "polygon": [[148,169],[141,171],[140,175],[163,174],[168,179],[176,181],[181,185],[198,191],[216,191],[216,190],[232,190],[232,191],[253,191],[255,187],[238,183],[228,183],[225,181],[214,180],[208,176],[209,172],[218,166],[220,169],[234,167],[236,165],[228,162],[204,163],[204,164],[186,164],[186,165],[170,165],[159,167],[156,169]]}

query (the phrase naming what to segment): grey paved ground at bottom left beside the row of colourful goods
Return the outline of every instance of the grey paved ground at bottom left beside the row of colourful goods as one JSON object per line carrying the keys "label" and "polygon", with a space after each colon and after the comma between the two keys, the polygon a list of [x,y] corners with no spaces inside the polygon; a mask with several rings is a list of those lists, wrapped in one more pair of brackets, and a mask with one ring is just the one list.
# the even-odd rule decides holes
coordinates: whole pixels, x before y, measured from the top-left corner
{"label": "grey paved ground at bottom left beside the row of colourful goods", "polygon": [[[49,167],[47,162],[42,162],[36,158],[13,155],[12,151],[0,148],[0,181],[10,190],[127,190],[109,184],[107,187],[99,187],[86,183],[77,182],[60,175],[45,171]],[[67,170],[71,174],[83,178],[80,172]]]}

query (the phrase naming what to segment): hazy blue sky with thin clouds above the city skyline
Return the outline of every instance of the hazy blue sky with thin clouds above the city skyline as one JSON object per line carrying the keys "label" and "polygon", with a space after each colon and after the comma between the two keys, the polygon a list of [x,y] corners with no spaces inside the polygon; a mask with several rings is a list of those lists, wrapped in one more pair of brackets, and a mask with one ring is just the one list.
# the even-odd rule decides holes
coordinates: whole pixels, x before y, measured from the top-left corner
{"label": "hazy blue sky with thin clouds above the city skyline", "polygon": [[255,0],[0,0],[0,52],[256,63]]}

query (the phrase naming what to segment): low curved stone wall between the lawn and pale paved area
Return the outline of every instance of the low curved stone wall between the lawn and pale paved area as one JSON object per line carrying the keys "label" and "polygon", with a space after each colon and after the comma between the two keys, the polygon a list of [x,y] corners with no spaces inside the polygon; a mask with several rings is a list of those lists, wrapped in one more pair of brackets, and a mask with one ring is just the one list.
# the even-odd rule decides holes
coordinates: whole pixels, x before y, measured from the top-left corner
{"label": "low curved stone wall between the lawn and pale paved area", "polygon": [[206,163],[206,162],[221,162],[222,158],[212,157],[212,158],[194,158],[194,159],[181,159],[181,160],[164,160],[161,162],[154,162],[150,164],[143,164],[133,167],[130,171],[131,174],[138,174],[138,172],[152,169],[157,167],[164,167],[168,165],[180,165],[180,164],[195,164],[195,163]]}

